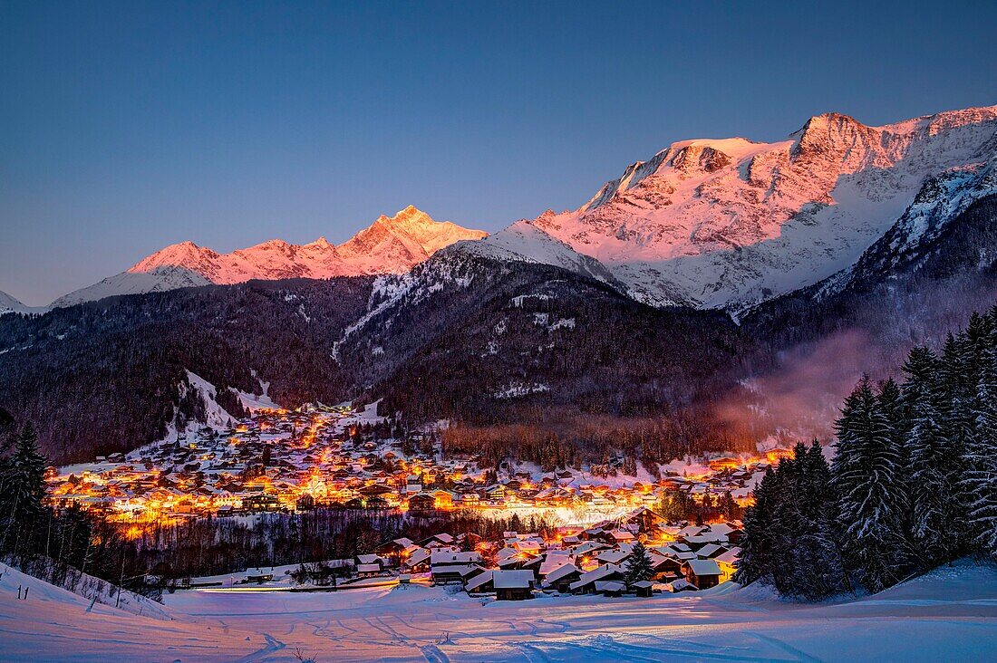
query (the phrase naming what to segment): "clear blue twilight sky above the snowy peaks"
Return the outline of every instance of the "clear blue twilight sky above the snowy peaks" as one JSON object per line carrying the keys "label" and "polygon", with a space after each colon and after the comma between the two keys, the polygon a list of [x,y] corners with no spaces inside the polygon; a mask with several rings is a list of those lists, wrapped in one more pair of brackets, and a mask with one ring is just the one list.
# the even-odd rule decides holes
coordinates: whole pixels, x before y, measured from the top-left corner
{"label": "clear blue twilight sky above the snowy peaks", "polygon": [[0,290],[192,239],[497,230],[673,141],[997,104],[997,2],[0,0]]}

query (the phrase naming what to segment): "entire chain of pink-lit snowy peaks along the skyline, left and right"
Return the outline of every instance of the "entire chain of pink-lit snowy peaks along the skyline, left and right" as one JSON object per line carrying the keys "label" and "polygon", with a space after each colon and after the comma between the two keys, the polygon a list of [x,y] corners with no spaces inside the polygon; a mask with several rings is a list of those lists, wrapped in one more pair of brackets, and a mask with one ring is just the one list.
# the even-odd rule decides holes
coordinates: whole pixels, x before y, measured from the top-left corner
{"label": "entire chain of pink-lit snowy peaks along the skyline, left and right", "polygon": [[[409,205],[339,245],[270,240],[217,253],[180,242],[73,299],[198,282],[401,273],[460,242],[455,251],[613,281],[647,303],[737,312],[850,265],[927,179],[995,157],[997,106],[879,127],[825,113],[774,143],[677,141],[626,166],[577,209],[547,210],[490,237]],[[140,275],[141,284],[131,278]]]}

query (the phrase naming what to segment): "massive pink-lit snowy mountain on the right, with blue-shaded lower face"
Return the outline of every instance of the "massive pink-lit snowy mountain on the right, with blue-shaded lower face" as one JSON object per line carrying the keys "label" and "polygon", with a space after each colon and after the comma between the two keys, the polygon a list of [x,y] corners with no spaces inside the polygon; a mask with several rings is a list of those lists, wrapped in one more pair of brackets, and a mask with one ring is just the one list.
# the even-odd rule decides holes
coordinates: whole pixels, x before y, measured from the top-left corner
{"label": "massive pink-lit snowy mountain on the right, with blue-shaded lower face", "polygon": [[485,243],[521,243],[532,225],[599,260],[637,299],[736,312],[854,262],[926,177],[991,159],[995,133],[997,106],[884,127],[826,114],[772,144],[684,141],[582,207]]}

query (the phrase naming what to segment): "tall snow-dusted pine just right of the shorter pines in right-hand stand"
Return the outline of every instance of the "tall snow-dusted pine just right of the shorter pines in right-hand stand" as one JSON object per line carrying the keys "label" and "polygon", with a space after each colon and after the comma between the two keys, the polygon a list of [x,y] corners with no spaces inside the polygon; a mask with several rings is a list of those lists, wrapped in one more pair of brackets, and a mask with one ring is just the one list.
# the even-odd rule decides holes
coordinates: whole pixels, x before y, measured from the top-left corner
{"label": "tall snow-dusted pine just right of the shorter pines in right-hand stand", "polygon": [[901,453],[868,377],[845,399],[835,428],[832,474],[845,558],[866,587],[879,591],[909,571],[902,522],[907,499]]}

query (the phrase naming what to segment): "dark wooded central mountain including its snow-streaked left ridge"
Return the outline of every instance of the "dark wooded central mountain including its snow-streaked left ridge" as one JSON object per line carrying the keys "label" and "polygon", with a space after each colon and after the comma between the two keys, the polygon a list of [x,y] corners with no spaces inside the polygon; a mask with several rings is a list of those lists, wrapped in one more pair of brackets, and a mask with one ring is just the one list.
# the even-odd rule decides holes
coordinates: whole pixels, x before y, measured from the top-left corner
{"label": "dark wooded central mountain including its snow-streaked left ridge", "polygon": [[462,242],[378,277],[334,356],[364,399],[416,421],[539,407],[563,423],[580,403],[636,416],[736,389],[740,361],[760,349],[725,313],[645,306],[614,282]]}

